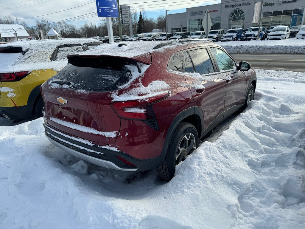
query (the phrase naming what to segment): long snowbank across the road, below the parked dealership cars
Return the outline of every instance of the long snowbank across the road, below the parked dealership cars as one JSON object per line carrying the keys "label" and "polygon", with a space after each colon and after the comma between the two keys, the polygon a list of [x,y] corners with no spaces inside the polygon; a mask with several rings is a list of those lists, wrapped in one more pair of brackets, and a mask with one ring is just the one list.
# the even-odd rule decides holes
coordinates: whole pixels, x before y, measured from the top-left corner
{"label": "long snowbank across the road, below the parked dealership cars", "polygon": [[229,53],[286,53],[286,54],[304,54],[305,39],[290,38],[287,40],[272,41],[231,41],[215,42],[221,45]]}

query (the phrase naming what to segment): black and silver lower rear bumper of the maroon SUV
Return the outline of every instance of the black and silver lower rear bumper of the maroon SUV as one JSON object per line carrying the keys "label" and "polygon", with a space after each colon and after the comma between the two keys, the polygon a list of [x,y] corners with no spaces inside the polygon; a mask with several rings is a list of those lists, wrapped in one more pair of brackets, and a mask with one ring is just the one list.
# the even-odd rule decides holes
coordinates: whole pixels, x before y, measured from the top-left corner
{"label": "black and silver lower rear bumper of the maroon SUV", "polygon": [[[154,169],[162,162],[161,157],[138,159],[115,147],[86,144],[86,140],[77,140],[75,137],[69,138],[67,135],[60,133],[59,130],[54,130],[45,123],[43,125],[45,134],[52,144],[77,158],[81,158],[95,165],[121,171],[144,171]],[[123,158],[134,166],[124,163],[118,157]]]}

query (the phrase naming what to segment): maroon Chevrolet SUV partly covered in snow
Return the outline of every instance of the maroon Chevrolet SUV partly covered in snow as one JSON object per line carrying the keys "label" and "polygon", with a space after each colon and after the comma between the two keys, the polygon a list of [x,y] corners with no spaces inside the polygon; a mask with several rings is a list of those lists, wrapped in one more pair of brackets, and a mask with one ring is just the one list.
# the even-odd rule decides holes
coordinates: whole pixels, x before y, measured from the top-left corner
{"label": "maroon Chevrolet SUV partly covered in snow", "polygon": [[119,42],[68,56],[42,85],[48,139],[123,171],[176,165],[254,99],[256,73],[210,40]]}

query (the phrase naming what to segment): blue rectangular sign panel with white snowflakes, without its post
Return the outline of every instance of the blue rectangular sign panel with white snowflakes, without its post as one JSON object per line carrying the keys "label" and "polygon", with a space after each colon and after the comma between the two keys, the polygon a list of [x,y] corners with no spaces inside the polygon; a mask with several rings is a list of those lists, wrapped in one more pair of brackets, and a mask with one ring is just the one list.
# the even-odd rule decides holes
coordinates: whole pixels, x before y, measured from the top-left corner
{"label": "blue rectangular sign panel with white snowflakes, without its post", "polygon": [[118,17],[117,0],[95,0],[97,16]]}

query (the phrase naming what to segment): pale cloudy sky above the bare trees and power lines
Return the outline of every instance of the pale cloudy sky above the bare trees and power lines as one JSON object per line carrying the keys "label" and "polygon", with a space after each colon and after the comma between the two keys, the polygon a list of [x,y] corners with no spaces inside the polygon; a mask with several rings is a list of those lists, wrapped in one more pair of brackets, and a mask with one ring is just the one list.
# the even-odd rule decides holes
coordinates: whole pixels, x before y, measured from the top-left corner
{"label": "pale cloudy sky above the bare trees and power lines", "polygon": [[[116,0],[108,0],[116,1]],[[120,0],[120,5],[130,5],[138,12],[145,10],[148,17],[170,13],[186,12],[186,8],[220,3],[220,0]],[[73,9],[71,9],[73,8]],[[61,12],[60,12],[61,11]],[[34,26],[36,20],[48,20],[48,23],[66,21],[77,26],[85,22],[98,24],[95,0],[10,0],[1,1],[0,17],[12,16],[24,20],[28,26]],[[56,13],[58,12],[58,13]],[[16,15],[16,16],[15,16]]]}

